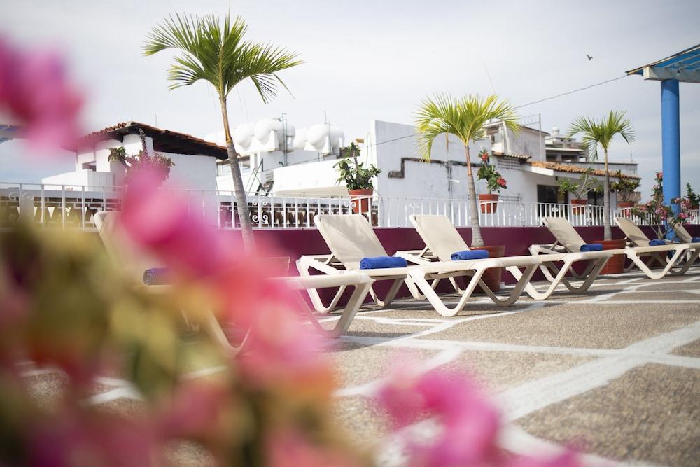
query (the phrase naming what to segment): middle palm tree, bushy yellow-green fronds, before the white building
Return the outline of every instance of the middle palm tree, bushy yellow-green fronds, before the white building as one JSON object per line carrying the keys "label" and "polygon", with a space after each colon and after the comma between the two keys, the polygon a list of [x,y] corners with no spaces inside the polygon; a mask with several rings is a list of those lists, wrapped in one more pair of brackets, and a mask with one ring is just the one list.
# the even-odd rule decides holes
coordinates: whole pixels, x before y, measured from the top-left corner
{"label": "middle palm tree, bushy yellow-green fronds, before the white building", "polygon": [[500,120],[507,129],[518,132],[520,125],[514,109],[507,100],[499,102],[496,95],[486,98],[478,95],[467,95],[461,99],[453,99],[447,94],[437,94],[434,97],[423,99],[416,112],[416,120],[419,150],[424,160],[430,160],[433,141],[440,134],[451,133],[462,141],[467,160],[467,187],[471,202],[470,211],[472,211],[472,245],[484,246],[479,225],[479,205],[474,186],[469,143],[486,137],[484,124],[490,120]]}

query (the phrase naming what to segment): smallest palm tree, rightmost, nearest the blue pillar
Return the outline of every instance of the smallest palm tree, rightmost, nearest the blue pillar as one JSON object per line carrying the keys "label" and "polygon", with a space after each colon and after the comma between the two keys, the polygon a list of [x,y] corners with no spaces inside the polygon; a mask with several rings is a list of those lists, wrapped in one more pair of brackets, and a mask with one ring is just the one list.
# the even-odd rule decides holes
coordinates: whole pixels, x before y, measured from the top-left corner
{"label": "smallest palm tree, rightmost, nearest the blue pillar", "polygon": [[610,111],[608,118],[600,121],[594,118],[579,117],[569,128],[568,137],[582,134],[582,144],[587,146],[589,160],[598,160],[598,144],[605,154],[605,183],[603,183],[603,239],[612,240],[610,228],[610,172],[608,172],[608,148],[612,137],[619,134],[627,144],[634,141],[634,131],[624,111]]}

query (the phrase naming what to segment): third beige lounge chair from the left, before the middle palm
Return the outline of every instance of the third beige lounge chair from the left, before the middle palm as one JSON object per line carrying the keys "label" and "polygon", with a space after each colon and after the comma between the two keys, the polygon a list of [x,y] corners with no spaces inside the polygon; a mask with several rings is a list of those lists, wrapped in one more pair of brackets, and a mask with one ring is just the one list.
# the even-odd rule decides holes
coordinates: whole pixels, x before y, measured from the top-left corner
{"label": "third beige lounge chair from the left, before the middle palm", "polygon": [[[459,235],[454,224],[447,216],[414,214],[409,219],[426,244],[426,247],[421,251],[409,252],[417,254],[406,256],[413,263],[420,264],[421,261],[430,261],[433,258],[437,258],[440,261],[449,261],[452,253],[469,249],[469,246],[462,236]],[[586,291],[598,277],[605,264],[608,263],[608,259],[612,257],[612,253],[607,251],[590,251],[585,253],[554,253],[548,251],[547,253],[550,254],[539,255],[538,253],[533,253],[540,260],[540,270],[542,270],[545,278],[549,281],[549,286],[544,288],[544,290],[538,290],[533,284],[527,284],[525,291],[535,300],[545,300],[556,291],[560,284],[563,284],[569,291],[574,293]],[[579,261],[589,261],[589,264],[581,275],[582,277],[580,277],[583,279],[582,284],[575,286],[571,284],[566,274],[575,274],[573,265]],[[561,264],[561,267],[557,267],[557,263]],[[506,267],[506,270],[513,274],[516,279],[519,279],[521,276],[521,271],[517,267]],[[455,290],[460,291],[454,278],[449,280]]]}

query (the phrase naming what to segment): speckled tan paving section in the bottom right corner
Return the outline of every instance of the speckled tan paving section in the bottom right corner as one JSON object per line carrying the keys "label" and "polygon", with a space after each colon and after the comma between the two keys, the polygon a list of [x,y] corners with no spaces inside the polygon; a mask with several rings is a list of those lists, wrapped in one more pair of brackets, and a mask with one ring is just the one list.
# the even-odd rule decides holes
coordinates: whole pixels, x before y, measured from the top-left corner
{"label": "speckled tan paving section in the bottom right corner", "polygon": [[700,371],[644,365],[517,421],[532,435],[617,461],[696,467]]}

